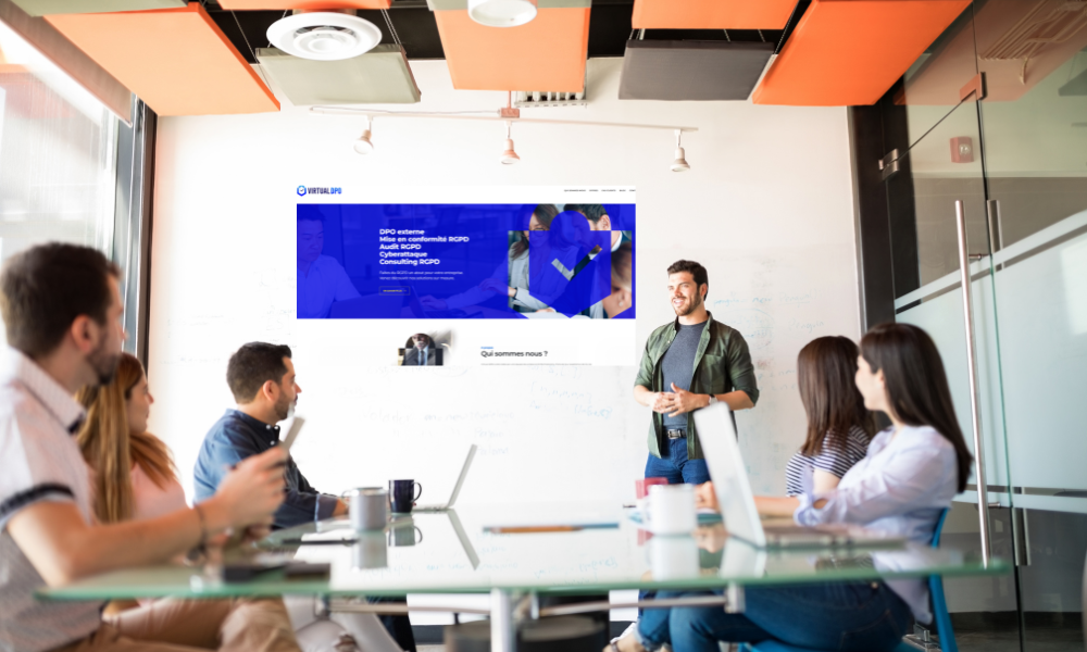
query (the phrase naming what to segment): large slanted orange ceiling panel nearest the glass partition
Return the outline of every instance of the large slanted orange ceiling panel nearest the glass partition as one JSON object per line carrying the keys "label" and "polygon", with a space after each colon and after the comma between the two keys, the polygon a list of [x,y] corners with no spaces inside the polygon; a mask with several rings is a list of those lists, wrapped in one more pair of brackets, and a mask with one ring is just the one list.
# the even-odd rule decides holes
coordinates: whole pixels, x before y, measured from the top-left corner
{"label": "large slanted orange ceiling panel nearest the glass partition", "polygon": [[970,0],[813,0],[755,104],[874,104]]}

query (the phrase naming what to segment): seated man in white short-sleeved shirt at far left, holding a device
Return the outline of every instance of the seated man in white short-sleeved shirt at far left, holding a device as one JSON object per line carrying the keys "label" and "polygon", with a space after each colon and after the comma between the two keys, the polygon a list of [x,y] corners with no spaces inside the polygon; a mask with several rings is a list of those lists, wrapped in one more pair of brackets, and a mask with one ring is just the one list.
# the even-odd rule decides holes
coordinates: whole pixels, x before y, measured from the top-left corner
{"label": "seated man in white short-sleeved shirt at far left, holding a device", "polygon": [[298,652],[283,602],[158,600],[103,620],[102,601],[34,592],[99,573],[166,564],[227,529],[271,523],[283,502],[282,448],[245,460],[215,496],[147,521],[97,525],[73,394],[116,371],[120,271],[100,252],[43,244],[0,275],[0,650]]}

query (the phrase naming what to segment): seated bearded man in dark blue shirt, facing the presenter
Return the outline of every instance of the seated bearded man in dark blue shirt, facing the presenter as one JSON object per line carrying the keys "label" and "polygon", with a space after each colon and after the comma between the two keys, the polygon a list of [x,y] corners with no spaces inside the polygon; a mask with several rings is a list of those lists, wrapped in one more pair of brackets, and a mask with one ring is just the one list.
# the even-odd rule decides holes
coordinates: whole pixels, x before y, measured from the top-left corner
{"label": "seated bearded man in dark blue shirt, facing the presenter", "polygon": [[[238,349],[226,366],[236,410],[227,410],[211,427],[200,447],[193,473],[196,502],[215,494],[226,474],[240,461],[279,443],[279,422],[298,403],[302,388],[296,383],[290,347],[249,342]],[[321,493],[298,469],[293,457],[284,469],[287,491],[275,513],[274,528],[286,528],[347,514],[347,503]],[[383,600],[373,600],[373,602]],[[408,652],[415,652],[408,616],[383,616],[382,623]]]}

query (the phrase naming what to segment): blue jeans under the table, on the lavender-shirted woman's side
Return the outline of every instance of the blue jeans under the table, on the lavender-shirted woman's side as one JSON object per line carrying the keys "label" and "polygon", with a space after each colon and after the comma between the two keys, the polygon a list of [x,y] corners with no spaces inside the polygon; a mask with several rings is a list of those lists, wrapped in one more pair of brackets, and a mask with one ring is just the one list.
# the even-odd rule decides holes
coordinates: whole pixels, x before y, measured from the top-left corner
{"label": "blue jeans under the table, on the lavender-shirted woman's side", "polygon": [[[660,597],[684,594],[694,593]],[[676,652],[717,652],[717,641],[769,639],[810,650],[890,652],[912,619],[910,607],[882,581],[751,587],[745,597],[742,614],[721,606],[647,609],[638,639],[647,650],[671,642]]]}

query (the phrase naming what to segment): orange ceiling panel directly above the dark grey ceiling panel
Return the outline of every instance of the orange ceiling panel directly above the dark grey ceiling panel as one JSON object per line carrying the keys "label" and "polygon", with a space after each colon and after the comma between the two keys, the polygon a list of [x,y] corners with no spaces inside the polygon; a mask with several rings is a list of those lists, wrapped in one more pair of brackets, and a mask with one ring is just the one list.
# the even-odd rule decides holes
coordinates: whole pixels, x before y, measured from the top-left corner
{"label": "orange ceiling panel directly above the dark grey ceiling panel", "polygon": [[634,0],[635,29],[784,29],[797,0]]}

